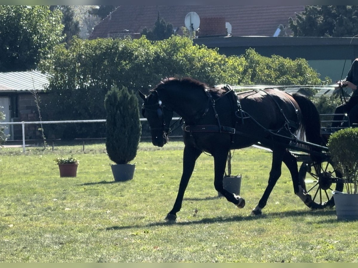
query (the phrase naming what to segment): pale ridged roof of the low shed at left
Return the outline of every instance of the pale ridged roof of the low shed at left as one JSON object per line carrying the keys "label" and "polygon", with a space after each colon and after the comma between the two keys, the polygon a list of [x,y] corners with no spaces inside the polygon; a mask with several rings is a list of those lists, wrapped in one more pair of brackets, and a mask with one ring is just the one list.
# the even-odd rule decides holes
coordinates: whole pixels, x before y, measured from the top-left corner
{"label": "pale ridged roof of the low shed at left", "polygon": [[49,84],[47,75],[39,71],[0,73],[1,91],[44,90]]}

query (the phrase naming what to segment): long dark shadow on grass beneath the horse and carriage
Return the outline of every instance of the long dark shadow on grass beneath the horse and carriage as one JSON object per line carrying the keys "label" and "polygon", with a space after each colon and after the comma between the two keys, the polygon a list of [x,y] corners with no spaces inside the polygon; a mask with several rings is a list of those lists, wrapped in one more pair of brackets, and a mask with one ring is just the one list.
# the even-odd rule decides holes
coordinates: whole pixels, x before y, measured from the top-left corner
{"label": "long dark shadow on grass beneath the horse and carriage", "polygon": [[[165,222],[164,220],[161,222],[154,222],[145,225],[127,225],[127,226],[112,226],[105,228],[106,231],[110,230],[125,230],[131,228],[146,228],[146,227],[153,227],[153,226],[168,226],[168,225],[193,225],[193,224],[212,224],[212,223],[227,223],[227,222],[241,222],[247,220],[258,220],[267,217],[297,217],[297,216],[305,216],[305,215],[312,215],[312,216],[327,216],[327,215],[335,215],[335,210],[305,210],[305,211],[296,211],[296,210],[289,210],[284,212],[273,212],[268,214],[262,214],[257,216],[234,216],[229,218],[224,217],[215,217],[215,218],[203,218],[201,220],[192,220],[190,222]],[[334,223],[337,222],[337,219],[327,219],[321,221],[314,221],[315,223]]]}

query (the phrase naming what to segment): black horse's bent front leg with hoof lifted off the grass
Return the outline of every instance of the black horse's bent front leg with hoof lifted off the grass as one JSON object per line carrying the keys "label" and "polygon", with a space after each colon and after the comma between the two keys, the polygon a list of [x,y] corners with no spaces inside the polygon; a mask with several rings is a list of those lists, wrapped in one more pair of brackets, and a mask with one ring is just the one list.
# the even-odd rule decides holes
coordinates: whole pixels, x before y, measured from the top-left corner
{"label": "black horse's bent front leg with hoof lifted off the grass", "polygon": [[229,151],[227,150],[213,155],[214,170],[215,170],[214,187],[215,190],[221,193],[228,201],[234,203],[238,208],[243,208],[245,207],[245,199],[243,199],[239,195],[228,192],[223,187],[223,177],[224,177],[228,152]]}

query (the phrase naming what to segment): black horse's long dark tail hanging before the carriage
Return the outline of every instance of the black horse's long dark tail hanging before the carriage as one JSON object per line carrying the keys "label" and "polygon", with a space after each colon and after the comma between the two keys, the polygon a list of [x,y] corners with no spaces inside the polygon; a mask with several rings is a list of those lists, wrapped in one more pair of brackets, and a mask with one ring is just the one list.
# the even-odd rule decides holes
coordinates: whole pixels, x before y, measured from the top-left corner
{"label": "black horse's long dark tail hanging before the carriage", "polygon": [[301,109],[302,130],[306,135],[306,140],[310,143],[314,143],[317,145],[325,145],[323,144],[324,142],[320,133],[321,120],[314,103],[310,101],[306,96],[299,93],[292,94],[292,97],[295,99]]}

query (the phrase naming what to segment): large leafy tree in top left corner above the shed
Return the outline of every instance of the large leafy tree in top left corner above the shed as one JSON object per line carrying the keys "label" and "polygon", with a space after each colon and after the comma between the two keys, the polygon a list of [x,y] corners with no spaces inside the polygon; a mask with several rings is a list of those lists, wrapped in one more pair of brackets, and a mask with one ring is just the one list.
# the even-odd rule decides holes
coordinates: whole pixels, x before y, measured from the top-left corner
{"label": "large leafy tree in top left corner above the shed", "polygon": [[0,6],[0,71],[35,69],[62,40],[61,18],[49,6]]}

